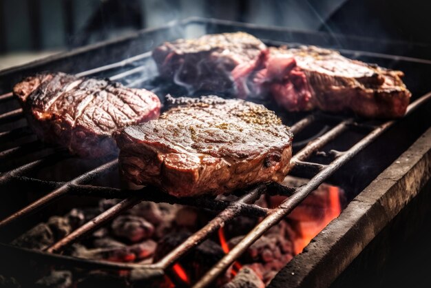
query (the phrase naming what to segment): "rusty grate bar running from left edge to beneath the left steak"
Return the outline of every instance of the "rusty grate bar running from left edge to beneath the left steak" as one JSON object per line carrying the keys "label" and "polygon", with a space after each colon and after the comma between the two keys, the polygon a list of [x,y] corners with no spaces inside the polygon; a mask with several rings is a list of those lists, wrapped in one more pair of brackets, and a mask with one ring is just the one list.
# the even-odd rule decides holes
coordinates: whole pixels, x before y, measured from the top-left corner
{"label": "rusty grate bar running from left edge to beneath the left steak", "polygon": [[22,218],[23,216],[28,216],[29,214],[33,214],[34,212],[39,211],[42,207],[45,207],[46,205],[52,203],[52,201],[64,196],[69,191],[70,185],[79,184],[84,181],[90,181],[96,176],[99,176],[100,174],[106,173],[109,170],[114,169],[115,167],[117,167],[117,165],[118,165],[118,160],[115,159],[95,169],[92,169],[91,171],[85,174],[82,174],[77,178],[74,178],[72,181],[65,183],[63,186],[55,189],[53,192],[50,192],[49,194],[43,196],[42,198],[39,198],[38,200],[34,201],[30,205],[24,207],[18,212],[15,212],[8,218],[1,220],[0,228],[6,225],[9,225],[10,223],[18,220],[19,218]]}

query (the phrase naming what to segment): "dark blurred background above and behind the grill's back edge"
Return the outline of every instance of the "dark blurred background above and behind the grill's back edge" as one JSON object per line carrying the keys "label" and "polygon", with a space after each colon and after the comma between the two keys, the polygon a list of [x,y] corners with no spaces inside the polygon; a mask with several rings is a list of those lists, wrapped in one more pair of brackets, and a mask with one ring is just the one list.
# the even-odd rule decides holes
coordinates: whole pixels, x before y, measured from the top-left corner
{"label": "dark blurred background above and behind the grill's back edge", "polygon": [[424,0],[0,0],[0,69],[186,17],[431,41]]}

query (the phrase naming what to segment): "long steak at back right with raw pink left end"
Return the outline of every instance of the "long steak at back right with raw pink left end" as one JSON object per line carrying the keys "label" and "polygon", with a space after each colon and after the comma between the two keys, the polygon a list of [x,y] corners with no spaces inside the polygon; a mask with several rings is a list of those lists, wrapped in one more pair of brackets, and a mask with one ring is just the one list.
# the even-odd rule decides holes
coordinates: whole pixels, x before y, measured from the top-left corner
{"label": "long steak at back right with raw pink left end", "polygon": [[232,74],[240,97],[267,93],[288,111],[350,110],[369,118],[397,118],[411,95],[401,81],[403,72],[314,46],[269,48]]}

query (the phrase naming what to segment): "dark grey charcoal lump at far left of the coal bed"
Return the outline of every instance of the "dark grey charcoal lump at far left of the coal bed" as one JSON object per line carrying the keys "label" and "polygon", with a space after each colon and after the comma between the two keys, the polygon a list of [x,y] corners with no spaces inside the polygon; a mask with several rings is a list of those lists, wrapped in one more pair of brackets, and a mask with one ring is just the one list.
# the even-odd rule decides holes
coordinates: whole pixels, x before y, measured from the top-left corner
{"label": "dark grey charcoal lump at far left of the coal bed", "polygon": [[17,239],[13,240],[12,245],[43,250],[54,244],[54,240],[54,235],[50,227],[45,223],[39,223],[28,232],[25,232]]}

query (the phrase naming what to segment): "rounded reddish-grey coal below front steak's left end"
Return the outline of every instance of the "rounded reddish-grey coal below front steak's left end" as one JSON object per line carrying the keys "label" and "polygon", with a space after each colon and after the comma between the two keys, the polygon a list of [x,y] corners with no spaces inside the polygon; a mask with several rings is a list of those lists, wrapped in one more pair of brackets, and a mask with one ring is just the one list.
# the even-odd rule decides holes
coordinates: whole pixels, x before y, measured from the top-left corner
{"label": "rounded reddish-grey coal below front steak's left end", "polygon": [[151,237],[154,233],[154,226],[147,220],[138,216],[122,215],[112,222],[114,235],[127,238],[131,242],[138,242]]}

